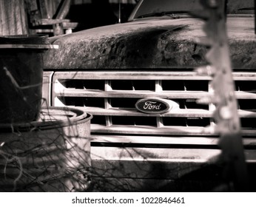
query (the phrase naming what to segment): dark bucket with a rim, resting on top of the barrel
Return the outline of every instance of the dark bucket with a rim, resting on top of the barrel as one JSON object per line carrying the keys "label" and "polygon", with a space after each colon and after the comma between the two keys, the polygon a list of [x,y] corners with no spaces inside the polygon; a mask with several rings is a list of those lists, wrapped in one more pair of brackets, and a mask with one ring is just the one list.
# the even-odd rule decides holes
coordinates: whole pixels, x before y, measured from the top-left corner
{"label": "dark bucket with a rim, resting on top of the barrel", "polygon": [[48,35],[0,36],[0,123],[36,121]]}

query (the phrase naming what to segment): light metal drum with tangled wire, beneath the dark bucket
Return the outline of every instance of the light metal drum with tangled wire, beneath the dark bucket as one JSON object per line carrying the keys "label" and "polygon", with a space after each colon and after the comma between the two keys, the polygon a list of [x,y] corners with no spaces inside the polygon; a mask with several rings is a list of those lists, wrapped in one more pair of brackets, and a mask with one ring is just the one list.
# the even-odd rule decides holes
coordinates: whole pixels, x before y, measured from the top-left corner
{"label": "light metal drum with tangled wire, beneath the dark bucket", "polygon": [[38,121],[0,124],[0,191],[87,191],[91,118],[50,107]]}

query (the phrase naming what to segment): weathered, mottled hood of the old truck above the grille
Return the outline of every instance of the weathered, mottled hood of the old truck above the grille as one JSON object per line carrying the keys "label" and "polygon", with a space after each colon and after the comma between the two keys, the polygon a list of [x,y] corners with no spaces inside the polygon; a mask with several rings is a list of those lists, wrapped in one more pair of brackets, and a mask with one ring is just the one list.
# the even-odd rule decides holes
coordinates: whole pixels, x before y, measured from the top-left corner
{"label": "weathered, mottled hood of the old truck above the grille", "polygon": [[[148,18],[96,27],[50,38],[58,50],[44,53],[45,69],[190,68],[206,64],[203,21],[195,18]],[[256,68],[254,18],[227,20],[235,68]]]}

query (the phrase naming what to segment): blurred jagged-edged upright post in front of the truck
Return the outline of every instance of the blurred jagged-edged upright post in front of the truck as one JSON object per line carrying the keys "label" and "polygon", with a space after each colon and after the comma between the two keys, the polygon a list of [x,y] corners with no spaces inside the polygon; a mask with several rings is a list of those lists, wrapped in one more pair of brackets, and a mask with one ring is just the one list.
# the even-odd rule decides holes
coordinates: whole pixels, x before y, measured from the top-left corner
{"label": "blurred jagged-edged upright post in front of the truck", "polygon": [[206,54],[209,65],[197,70],[212,76],[210,84],[214,95],[211,104],[215,105],[215,132],[220,135],[218,145],[222,149],[220,162],[224,165],[223,179],[231,191],[248,191],[247,166],[226,34],[226,1],[201,0],[201,4],[204,10],[194,15],[205,21],[203,31],[206,40],[203,44],[207,44],[210,49]]}

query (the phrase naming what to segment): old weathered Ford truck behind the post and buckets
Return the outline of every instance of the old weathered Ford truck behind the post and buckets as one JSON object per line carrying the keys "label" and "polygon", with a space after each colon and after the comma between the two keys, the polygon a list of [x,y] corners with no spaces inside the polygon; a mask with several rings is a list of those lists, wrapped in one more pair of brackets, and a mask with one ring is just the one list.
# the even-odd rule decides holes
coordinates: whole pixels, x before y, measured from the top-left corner
{"label": "old weathered Ford truck behind the post and buckets", "polygon": [[[139,1],[129,21],[51,38],[44,55],[48,106],[93,115],[93,179],[100,191],[219,191],[225,183],[212,126],[198,1]],[[256,41],[252,1],[228,1],[227,33],[246,163],[256,161]],[[143,112],[141,101],[167,103]],[[150,103],[151,103],[150,102]],[[251,175],[250,175],[251,176]],[[253,176],[252,176],[253,177]],[[203,181],[202,181],[203,180]],[[252,179],[255,186],[255,179]]]}

